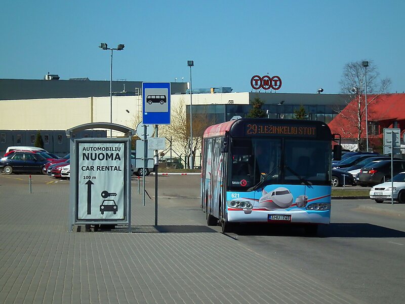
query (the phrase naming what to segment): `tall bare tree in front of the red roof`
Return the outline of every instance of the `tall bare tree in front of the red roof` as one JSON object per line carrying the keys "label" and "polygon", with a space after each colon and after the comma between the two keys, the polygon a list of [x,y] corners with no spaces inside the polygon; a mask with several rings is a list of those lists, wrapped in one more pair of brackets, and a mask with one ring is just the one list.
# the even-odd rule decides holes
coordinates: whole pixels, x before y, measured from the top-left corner
{"label": "tall bare tree in front of the red roof", "polygon": [[[350,135],[352,138],[356,138],[358,150],[363,148],[361,134],[363,133],[363,129],[365,129],[365,124],[362,124],[362,121],[366,121],[366,69],[363,67],[362,62],[363,60],[346,63],[339,82],[341,93],[350,94],[347,103],[353,99],[357,101],[356,109],[346,111],[343,117],[349,125],[355,124],[354,129],[356,130],[356,134]],[[369,66],[367,67],[367,107],[381,94],[385,93],[391,85],[389,78],[380,79],[379,75],[377,66],[373,65],[372,61],[369,61]],[[342,128],[343,133],[346,132],[344,130],[350,130],[350,128]]]}

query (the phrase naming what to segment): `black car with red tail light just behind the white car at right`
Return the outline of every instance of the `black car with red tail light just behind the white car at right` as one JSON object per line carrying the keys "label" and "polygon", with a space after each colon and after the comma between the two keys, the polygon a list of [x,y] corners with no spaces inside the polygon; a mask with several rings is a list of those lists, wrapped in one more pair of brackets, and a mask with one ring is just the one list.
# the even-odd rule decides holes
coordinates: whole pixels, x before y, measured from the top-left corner
{"label": "black car with red tail light just behind the white car at right", "polygon": [[[405,171],[405,161],[394,160],[392,169],[394,176]],[[357,183],[361,186],[374,186],[389,178],[391,178],[391,161],[385,160],[363,167],[358,174]]]}

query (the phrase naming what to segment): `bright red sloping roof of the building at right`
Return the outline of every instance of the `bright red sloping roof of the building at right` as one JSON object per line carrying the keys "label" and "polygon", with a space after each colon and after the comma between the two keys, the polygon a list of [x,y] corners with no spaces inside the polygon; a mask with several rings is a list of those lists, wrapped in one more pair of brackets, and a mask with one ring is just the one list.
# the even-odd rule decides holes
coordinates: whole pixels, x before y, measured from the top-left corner
{"label": "bright red sloping roof of the building at right", "polygon": [[[365,107],[365,96],[361,99],[361,110]],[[381,127],[392,127],[397,121],[398,127],[405,127],[405,94],[367,95],[369,122],[380,122]],[[357,138],[357,100],[353,99],[329,124],[332,133],[339,133],[342,138]],[[401,124],[402,121],[402,124]],[[382,122],[386,122],[384,126]],[[402,125],[402,126],[401,126]],[[362,138],[366,137],[366,116],[363,115],[361,127]],[[382,132],[382,130],[381,130]],[[379,134],[377,137],[382,137]]]}

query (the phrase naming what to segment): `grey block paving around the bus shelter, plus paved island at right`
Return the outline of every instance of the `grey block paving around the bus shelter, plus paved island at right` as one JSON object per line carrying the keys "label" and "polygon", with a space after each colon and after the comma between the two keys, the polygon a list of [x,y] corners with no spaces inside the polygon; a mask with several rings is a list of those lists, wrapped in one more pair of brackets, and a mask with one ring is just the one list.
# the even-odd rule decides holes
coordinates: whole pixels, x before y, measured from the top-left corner
{"label": "grey block paving around the bus shelter, plus paved island at right", "polygon": [[[0,174],[1,303],[362,303],[190,219],[205,215],[199,194],[184,194],[188,177],[159,194],[157,226],[152,194],[143,206],[133,181],[132,233],[69,233],[69,181],[35,176],[29,193],[24,178]],[[365,206],[405,216],[405,205]]]}

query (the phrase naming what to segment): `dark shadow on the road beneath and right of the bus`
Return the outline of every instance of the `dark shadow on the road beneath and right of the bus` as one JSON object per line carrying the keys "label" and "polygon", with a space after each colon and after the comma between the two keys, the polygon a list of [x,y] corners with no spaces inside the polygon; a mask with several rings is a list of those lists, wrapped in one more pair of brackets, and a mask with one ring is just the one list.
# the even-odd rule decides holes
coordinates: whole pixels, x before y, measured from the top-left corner
{"label": "dark shadow on the road beneath and right of the bus", "polygon": [[405,238],[405,232],[369,223],[331,223],[319,225],[317,235],[307,234],[305,225],[240,224],[240,236],[298,236],[318,238]]}

